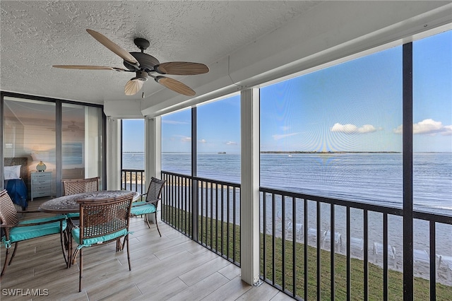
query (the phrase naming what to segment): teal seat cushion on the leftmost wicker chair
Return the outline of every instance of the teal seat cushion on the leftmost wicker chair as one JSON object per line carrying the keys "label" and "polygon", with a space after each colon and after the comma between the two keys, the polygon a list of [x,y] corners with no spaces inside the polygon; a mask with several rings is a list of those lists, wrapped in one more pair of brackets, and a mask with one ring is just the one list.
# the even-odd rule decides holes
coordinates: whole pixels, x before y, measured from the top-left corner
{"label": "teal seat cushion on the leftmost wicker chair", "polygon": [[[23,220],[19,223],[19,225],[27,225],[30,223],[40,223],[49,220],[55,220],[57,216],[52,218],[39,218],[36,220]],[[59,216],[61,218],[61,216]],[[66,230],[66,220],[62,221],[62,230]],[[47,223],[42,225],[30,225],[23,227],[14,227],[11,228],[9,232],[9,242],[12,244],[13,242],[21,242],[23,240],[30,240],[36,237],[42,237],[45,235],[57,234],[61,231],[60,222],[55,221],[54,223]],[[6,237],[2,237],[1,240],[4,242]]]}

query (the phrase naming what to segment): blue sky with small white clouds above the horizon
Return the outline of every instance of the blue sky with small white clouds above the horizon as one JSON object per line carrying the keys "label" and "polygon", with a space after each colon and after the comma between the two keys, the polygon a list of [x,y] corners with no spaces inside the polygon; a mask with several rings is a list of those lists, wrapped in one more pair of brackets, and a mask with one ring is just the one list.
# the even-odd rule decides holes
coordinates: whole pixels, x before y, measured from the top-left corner
{"label": "blue sky with small white clouds above the horizon", "polygon": [[[413,149],[451,152],[452,31],[413,52]],[[395,47],[261,88],[261,151],[402,151],[401,61]],[[240,151],[239,102],[198,106],[199,152]],[[142,150],[124,130],[124,151]],[[190,150],[191,110],[162,117],[162,151]]]}

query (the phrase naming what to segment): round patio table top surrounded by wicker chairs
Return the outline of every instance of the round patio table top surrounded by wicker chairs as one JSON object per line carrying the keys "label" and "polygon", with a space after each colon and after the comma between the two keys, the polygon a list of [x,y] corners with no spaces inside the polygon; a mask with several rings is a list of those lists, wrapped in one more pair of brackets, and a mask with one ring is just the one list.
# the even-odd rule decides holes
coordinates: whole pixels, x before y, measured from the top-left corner
{"label": "round patio table top surrounded by wicker chairs", "polygon": [[93,199],[93,201],[100,201],[102,199],[116,198],[131,193],[135,194],[133,196],[133,201],[136,201],[141,196],[138,192],[129,190],[100,190],[83,192],[81,194],[60,196],[58,198],[45,201],[39,208],[37,208],[37,210],[55,214],[78,213],[80,211],[80,206],[77,203],[78,200]]}

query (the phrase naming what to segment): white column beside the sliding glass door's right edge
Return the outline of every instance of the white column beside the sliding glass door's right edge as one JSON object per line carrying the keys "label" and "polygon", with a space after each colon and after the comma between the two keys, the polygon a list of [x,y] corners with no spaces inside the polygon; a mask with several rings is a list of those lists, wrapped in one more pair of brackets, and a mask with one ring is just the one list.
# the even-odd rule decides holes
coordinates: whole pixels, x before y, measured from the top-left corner
{"label": "white column beside the sliding glass door's right edge", "polygon": [[107,117],[107,189],[121,189],[121,122]]}

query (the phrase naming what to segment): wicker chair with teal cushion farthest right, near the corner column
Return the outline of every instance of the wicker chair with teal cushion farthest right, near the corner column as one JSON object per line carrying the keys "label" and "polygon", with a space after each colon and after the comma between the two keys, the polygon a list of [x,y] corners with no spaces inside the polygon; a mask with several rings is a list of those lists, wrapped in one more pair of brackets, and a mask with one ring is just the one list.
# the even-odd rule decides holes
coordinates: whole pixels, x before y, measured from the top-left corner
{"label": "wicker chair with teal cushion farthest right, near the corner column", "polygon": [[132,203],[131,208],[131,216],[145,216],[148,228],[150,228],[148,214],[153,213],[155,217],[155,225],[157,226],[157,231],[160,237],[162,237],[162,235],[160,234],[157,224],[157,205],[158,201],[160,201],[160,196],[162,195],[162,189],[165,182],[165,180],[152,177],[150,179],[148,191],[143,194],[143,196],[145,196],[145,201],[134,202]]}

